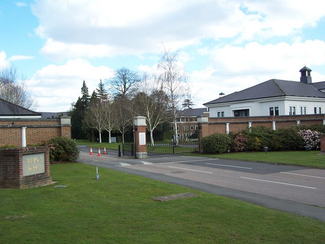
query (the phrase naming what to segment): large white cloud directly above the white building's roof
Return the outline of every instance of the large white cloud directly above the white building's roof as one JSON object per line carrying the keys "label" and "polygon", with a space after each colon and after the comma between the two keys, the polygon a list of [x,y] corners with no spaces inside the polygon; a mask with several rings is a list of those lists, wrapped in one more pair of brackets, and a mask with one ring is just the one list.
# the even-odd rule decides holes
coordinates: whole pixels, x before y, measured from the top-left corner
{"label": "large white cloud directly above the white building's roof", "polygon": [[[244,47],[225,45],[201,50],[211,55],[210,68],[191,73],[194,90],[200,90],[200,102],[217,99],[220,92],[228,95],[269,79],[300,81],[299,70],[325,65],[325,42],[261,45],[256,42]],[[325,75],[312,72],[312,81],[325,80]]]}

